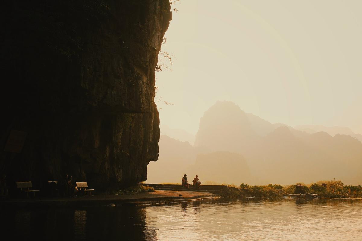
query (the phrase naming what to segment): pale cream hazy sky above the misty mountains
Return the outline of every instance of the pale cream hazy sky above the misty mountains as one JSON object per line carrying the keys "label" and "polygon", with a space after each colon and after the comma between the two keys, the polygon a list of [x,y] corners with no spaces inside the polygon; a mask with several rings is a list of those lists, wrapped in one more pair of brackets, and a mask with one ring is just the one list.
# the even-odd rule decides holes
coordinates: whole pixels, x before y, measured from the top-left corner
{"label": "pale cream hazy sky above the misty mountains", "polygon": [[362,1],[180,0],[172,7],[178,12],[162,48],[175,55],[173,72],[156,79],[161,125],[195,134],[203,112],[230,100],[272,123],[362,133]]}

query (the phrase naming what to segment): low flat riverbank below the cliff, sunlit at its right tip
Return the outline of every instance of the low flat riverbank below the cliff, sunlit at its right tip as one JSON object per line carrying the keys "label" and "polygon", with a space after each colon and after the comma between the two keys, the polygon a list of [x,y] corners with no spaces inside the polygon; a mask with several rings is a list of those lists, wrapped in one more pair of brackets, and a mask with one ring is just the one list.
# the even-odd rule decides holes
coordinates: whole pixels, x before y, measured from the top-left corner
{"label": "low flat riverbank below the cliff, sunlit at its right tip", "polygon": [[33,197],[1,200],[3,207],[91,207],[91,206],[150,206],[216,199],[219,195],[195,191],[152,191],[123,195],[93,195],[76,197]]}

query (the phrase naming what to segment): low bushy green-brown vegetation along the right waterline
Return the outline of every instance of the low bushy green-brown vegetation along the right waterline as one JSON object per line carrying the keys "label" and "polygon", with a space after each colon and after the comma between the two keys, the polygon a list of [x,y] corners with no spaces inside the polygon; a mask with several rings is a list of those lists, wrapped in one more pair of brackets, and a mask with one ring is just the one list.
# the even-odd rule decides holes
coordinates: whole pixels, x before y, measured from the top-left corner
{"label": "low bushy green-brown vegetation along the right waterline", "polygon": [[[323,185],[322,185],[323,184]],[[341,180],[318,181],[313,184],[296,185],[264,185],[249,186],[241,184],[240,186],[228,185],[224,189],[222,196],[224,197],[282,197],[292,193],[315,193],[324,198],[362,198],[362,186],[345,186]]]}

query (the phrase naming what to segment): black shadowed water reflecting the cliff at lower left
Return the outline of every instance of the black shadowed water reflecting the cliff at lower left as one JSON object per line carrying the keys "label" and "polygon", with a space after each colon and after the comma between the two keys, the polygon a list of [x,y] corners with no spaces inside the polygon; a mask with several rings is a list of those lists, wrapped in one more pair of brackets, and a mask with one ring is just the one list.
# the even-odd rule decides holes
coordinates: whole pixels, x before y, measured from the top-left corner
{"label": "black shadowed water reflecting the cliff at lower left", "polygon": [[24,240],[155,240],[157,230],[146,225],[144,208],[133,207],[3,210],[0,217],[4,230]]}

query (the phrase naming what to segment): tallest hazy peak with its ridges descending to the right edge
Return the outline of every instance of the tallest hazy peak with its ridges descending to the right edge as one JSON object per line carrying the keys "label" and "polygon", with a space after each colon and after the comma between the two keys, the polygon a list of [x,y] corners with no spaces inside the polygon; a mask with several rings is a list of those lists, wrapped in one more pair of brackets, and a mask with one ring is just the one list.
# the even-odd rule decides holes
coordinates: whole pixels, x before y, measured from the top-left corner
{"label": "tallest hazy peak with its ridges descending to the right edge", "polygon": [[241,154],[260,184],[340,178],[362,183],[362,144],[349,135],[306,133],[216,102],[200,121],[195,146]]}

